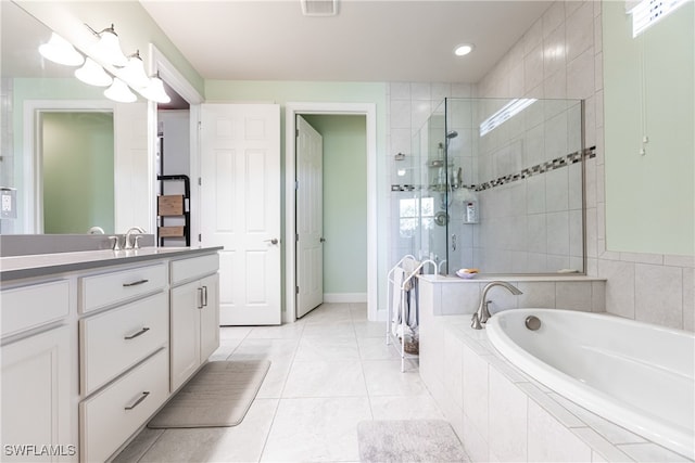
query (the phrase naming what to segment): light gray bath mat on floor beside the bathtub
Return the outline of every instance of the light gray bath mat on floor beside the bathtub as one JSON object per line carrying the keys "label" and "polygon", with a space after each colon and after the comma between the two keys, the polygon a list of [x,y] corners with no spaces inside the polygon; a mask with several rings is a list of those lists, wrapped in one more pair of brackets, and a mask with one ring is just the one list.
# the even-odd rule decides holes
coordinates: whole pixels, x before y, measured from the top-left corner
{"label": "light gray bath mat on floor beside the bathtub", "polygon": [[363,421],[357,438],[361,462],[470,462],[443,420]]}

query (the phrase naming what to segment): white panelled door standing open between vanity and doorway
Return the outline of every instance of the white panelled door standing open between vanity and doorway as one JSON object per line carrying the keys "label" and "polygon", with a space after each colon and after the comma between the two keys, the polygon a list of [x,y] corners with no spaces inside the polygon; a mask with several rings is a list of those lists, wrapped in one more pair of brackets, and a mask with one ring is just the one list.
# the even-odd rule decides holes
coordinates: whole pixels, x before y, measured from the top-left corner
{"label": "white panelled door standing open between vanity and doorway", "polygon": [[201,107],[201,244],[219,255],[219,323],[280,324],[280,106]]}

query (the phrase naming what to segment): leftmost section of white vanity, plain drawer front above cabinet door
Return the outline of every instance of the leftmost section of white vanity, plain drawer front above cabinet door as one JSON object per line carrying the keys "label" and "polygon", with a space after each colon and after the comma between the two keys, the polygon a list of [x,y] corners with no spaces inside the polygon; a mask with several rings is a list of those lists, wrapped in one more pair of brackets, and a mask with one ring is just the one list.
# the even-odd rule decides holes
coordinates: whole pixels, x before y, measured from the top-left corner
{"label": "leftmost section of white vanity, plain drawer front above cabinet door", "polygon": [[3,288],[2,461],[77,460],[73,343],[65,279]]}

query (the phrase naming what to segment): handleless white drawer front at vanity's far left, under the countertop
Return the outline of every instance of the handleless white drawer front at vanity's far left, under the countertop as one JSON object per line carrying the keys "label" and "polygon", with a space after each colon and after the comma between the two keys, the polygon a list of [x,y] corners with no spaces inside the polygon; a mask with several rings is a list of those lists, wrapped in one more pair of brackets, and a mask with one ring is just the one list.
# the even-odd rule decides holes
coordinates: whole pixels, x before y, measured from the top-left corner
{"label": "handleless white drawer front at vanity's far left, under the countertop", "polygon": [[59,280],[3,290],[0,293],[0,305],[2,336],[30,330],[67,317],[70,283],[67,280]]}

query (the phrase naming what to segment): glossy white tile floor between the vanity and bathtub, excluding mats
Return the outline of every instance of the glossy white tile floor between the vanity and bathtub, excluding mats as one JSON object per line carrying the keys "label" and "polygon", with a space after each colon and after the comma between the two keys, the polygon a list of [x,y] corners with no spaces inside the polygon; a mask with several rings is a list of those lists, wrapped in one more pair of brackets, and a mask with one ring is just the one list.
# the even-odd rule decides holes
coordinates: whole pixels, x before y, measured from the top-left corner
{"label": "glossy white tile floor between the vanity and bathtub, excluding mats", "polygon": [[115,462],[356,462],[363,420],[443,419],[365,304],[324,304],[282,326],[223,327],[212,360],[269,359],[235,427],[144,429]]}

